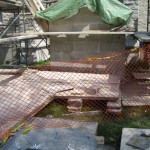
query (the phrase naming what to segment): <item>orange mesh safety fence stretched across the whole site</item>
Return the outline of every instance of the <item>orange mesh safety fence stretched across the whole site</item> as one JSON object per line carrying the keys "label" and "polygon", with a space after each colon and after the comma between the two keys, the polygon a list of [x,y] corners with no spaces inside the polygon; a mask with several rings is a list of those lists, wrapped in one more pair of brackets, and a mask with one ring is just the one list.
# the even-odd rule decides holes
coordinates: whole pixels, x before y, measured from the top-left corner
{"label": "orange mesh safety fence stretched across the whole site", "polygon": [[[1,137],[22,125],[79,127],[95,122],[101,135],[105,123],[114,126],[114,122],[119,125],[149,116],[149,54],[144,47],[1,70]],[[136,123],[129,126],[140,127]]]}

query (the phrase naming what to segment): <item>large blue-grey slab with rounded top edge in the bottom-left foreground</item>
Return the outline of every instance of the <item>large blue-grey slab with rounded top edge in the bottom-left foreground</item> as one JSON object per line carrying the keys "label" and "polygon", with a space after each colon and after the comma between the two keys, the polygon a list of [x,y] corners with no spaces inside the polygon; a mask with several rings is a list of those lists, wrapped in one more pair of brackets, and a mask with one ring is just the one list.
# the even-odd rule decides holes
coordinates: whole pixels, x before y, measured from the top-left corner
{"label": "large blue-grey slab with rounded top edge in the bottom-left foreground", "polygon": [[46,128],[19,132],[10,139],[2,150],[40,149],[40,150],[96,150],[97,141],[87,131],[62,128]]}

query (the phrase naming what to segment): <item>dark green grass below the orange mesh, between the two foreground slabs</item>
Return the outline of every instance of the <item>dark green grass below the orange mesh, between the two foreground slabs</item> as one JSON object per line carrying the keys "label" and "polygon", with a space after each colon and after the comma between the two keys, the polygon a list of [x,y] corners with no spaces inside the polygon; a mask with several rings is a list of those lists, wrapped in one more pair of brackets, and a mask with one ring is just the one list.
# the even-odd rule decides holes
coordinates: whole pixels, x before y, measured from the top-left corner
{"label": "dark green grass below the orange mesh, between the two foreground slabs", "polygon": [[134,119],[121,118],[119,121],[99,123],[98,135],[105,137],[107,144],[120,144],[123,128],[150,128],[150,115]]}

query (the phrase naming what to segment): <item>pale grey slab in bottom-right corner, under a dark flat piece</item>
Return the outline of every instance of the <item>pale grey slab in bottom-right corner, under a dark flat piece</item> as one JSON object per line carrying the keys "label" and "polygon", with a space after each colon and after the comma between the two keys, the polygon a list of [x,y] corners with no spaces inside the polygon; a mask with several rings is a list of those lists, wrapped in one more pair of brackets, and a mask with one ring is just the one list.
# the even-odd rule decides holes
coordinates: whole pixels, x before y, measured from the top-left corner
{"label": "pale grey slab in bottom-right corner, under a dark flat piece", "polygon": [[139,150],[139,148],[127,145],[127,142],[134,135],[139,136],[142,133],[147,133],[147,132],[150,133],[150,129],[123,128],[120,150]]}

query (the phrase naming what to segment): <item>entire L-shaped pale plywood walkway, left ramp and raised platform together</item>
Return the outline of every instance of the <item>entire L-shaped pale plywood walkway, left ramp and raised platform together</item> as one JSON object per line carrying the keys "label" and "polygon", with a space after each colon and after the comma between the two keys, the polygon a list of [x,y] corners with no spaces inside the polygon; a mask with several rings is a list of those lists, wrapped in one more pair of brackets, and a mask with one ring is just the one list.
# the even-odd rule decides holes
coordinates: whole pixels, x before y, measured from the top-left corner
{"label": "entire L-shaped pale plywood walkway, left ramp and raised platform together", "polygon": [[[54,97],[116,99],[119,82],[118,76],[37,70],[26,70],[21,76],[0,75],[0,127],[28,119]],[[97,93],[91,94],[95,87]]]}

